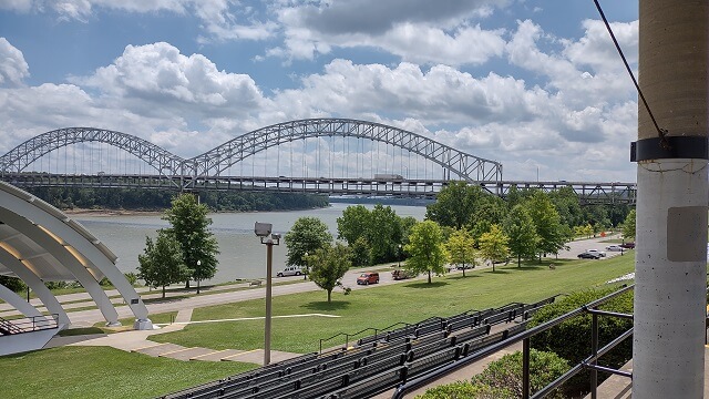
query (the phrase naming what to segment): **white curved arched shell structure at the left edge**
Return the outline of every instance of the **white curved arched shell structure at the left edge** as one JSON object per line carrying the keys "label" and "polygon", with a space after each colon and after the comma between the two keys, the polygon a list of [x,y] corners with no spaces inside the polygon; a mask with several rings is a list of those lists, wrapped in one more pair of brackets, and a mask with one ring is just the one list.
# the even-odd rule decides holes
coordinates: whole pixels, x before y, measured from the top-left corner
{"label": "white curved arched shell structure at the left edge", "polygon": [[[106,324],[120,325],[119,313],[99,285],[104,276],[130,306],[136,319],[134,328],[153,328],[145,304],[115,267],[115,260],[116,256],[104,244],[61,211],[0,182],[0,275],[22,279],[47,309],[58,315],[60,329],[71,320],[44,282],[81,283]],[[17,296],[9,295],[7,288],[0,294],[9,304],[17,303]],[[14,307],[27,317],[38,315],[24,305]]]}

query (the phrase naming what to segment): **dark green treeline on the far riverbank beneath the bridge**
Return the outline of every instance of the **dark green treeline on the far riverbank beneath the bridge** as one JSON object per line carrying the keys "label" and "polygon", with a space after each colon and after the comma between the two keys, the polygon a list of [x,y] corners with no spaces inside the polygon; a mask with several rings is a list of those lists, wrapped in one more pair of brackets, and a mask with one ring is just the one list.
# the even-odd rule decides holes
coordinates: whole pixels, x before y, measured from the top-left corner
{"label": "dark green treeline on the far riverbank beneath the bridge", "polygon": [[[129,188],[34,187],[28,192],[60,209],[162,211],[175,192]],[[215,212],[294,211],[326,207],[327,195],[202,192],[199,201]]]}

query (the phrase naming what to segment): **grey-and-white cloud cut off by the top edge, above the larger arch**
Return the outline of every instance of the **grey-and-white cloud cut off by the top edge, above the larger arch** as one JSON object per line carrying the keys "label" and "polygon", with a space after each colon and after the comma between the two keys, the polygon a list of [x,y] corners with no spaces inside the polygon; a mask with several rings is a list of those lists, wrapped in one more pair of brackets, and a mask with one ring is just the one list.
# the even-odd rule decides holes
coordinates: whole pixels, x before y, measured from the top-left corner
{"label": "grey-and-white cloud cut off by the top edge, above the larger arch", "polygon": [[481,64],[504,50],[504,30],[475,20],[508,1],[341,1],[277,11],[284,47],[268,55],[312,60],[333,48],[373,48],[423,64]]}

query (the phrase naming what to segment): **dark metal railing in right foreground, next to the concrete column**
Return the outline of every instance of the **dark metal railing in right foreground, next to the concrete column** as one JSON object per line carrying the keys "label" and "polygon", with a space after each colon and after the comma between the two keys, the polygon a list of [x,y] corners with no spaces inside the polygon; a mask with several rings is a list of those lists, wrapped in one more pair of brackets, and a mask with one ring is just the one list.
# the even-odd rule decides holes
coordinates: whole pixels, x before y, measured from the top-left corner
{"label": "dark metal railing in right foreground, next to the concrete column", "polygon": [[[605,371],[605,372],[610,372],[610,374],[616,374],[619,376],[624,376],[624,377],[629,377],[631,378],[631,374],[627,372],[627,371],[621,371],[621,370],[615,370],[615,369],[610,369],[610,368],[606,368],[606,367],[602,367],[598,366],[597,360],[599,357],[602,357],[603,355],[605,355],[606,352],[608,352],[610,349],[613,349],[614,347],[616,347],[618,344],[620,344],[623,340],[625,340],[626,338],[628,338],[629,336],[633,335],[633,329],[629,329],[627,331],[625,331],[624,334],[621,334],[618,338],[612,340],[610,342],[608,342],[606,346],[604,346],[603,348],[598,349],[598,316],[608,316],[608,317],[623,317],[623,318],[633,318],[633,315],[626,315],[626,314],[619,314],[619,313],[613,313],[613,311],[604,311],[604,310],[598,310],[597,307],[607,303],[608,300],[628,291],[631,290],[635,287],[635,285],[630,285],[627,287],[623,287],[621,289],[608,294],[606,296],[604,296],[603,298],[596,299],[592,303],[588,303],[575,310],[572,310],[567,314],[564,314],[555,319],[552,319],[549,321],[546,321],[542,325],[538,325],[534,328],[531,328],[528,330],[525,330],[523,332],[520,332],[515,336],[512,336],[508,339],[503,340],[502,342],[492,345],[490,347],[483,348],[480,351],[467,356],[467,357],[463,357],[460,358],[455,361],[453,361],[452,364],[448,364],[445,366],[442,366],[438,369],[432,370],[429,374],[425,374],[421,377],[414,378],[412,380],[409,380],[404,383],[402,383],[401,386],[399,386],[397,388],[397,390],[394,391],[392,399],[401,399],[403,398],[403,396],[407,392],[412,391],[413,389],[417,388],[421,388],[425,385],[428,385],[429,382],[445,376],[454,370],[458,370],[462,367],[469,366],[482,358],[485,358],[492,354],[495,354],[502,349],[505,349],[514,344],[517,344],[520,341],[522,341],[522,398],[523,399],[538,399],[538,398],[544,398],[544,396],[548,395],[549,392],[552,392],[554,389],[558,388],[562,383],[564,383],[566,380],[568,380],[569,378],[572,378],[573,376],[577,375],[578,372],[580,372],[584,369],[588,369],[590,370],[590,380],[592,380],[592,387],[590,387],[590,395],[592,398],[596,398],[597,395],[597,371]],[[554,380],[552,383],[547,385],[546,387],[542,388],[540,391],[537,391],[534,396],[530,396],[530,339],[543,331],[546,331],[548,329],[551,329],[552,327],[555,327],[568,319],[572,319],[574,317],[580,316],[583,314],[590,314],[592,315],[592,355],[589,357],[587,357],[586,359],[582,360],[580,364],[576,365],[575,367],[573,367],[571,370],[568,370],[567,372],[565,372],[563,376],[561,376],[559,378],[557,378],[556,380]]]}

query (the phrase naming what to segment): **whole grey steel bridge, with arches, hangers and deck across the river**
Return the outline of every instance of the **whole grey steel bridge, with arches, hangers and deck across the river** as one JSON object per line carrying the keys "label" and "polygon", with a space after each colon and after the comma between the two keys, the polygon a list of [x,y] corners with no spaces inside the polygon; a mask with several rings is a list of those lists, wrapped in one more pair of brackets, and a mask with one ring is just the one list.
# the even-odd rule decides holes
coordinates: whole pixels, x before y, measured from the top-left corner
{"label": "whole grey steel bridge, with arches, hangers and deck across the river", "polygon": [[[308,141],[318,143],[340,137],[342,141],[354,140],[357,142],[383,143],[387,146],[405,152],[409,157],[418,156],[430,164],[438,165],[443,173],[432,177],[420,176],[413,173],[414,167],[401,164],[405,168],[391,172],[395,165],[391,161],[391,170],[378,174],[376,165],[367,165],[357,168],[356,177],[343,175],[336,176],[330,173],[326,176],[319,171],[304,168],[305,173],[298,174],[291,171],[285,175],[258,175],[251,165],[251,175],[234,174],[233,166],[244,164],[247,160],[254,160],[259,154],[266,154],[273,149],[289,147],[292,158],[294,143],[301,143],[301,157],[312,152],[308,149]],[[103,172],[94,170],[89,173],[52,171],[51,167],[38,168],[38,160],[50,156],[50,153],[59,152],[72,145],[82,143],[103,143],[113,149],[121,150],[146,165],[147,171],[132,173],[129,171]],[[373,144],[370,145],[370,156],[373,160]],[[332,151],[335,145],[328,149]],[[377,146],[379,149],[379,146]],[[317,149],[319,151],[319,147]],[[359,156],[364,151],[364,144],[358,150]],[[50,154],[50,155],[48,155]],[[395,153],[392,151],[395,158]],[[384,158],[391,157],[388,152]],[[66,156],[66,155],[65,155]],[[93,155],[92,155],[93,156]],[[358,156],[350,153],[349,146],[338,156]],[[377,154],[379,157],[380,154]],[[347,161],[347,160],[346,160]],[[410,161],[410,160],[409,160]],[[268,161],[264,161],[268,163]],[[291,161],[292,162],[292,161]],[[359,163],[369,163],[360,160]],[[51,164],[51,162],[48,162]],[[65,161],[71,163],[71,161]],[[345,165],[345,163],[343,163]],[[30,167],[33,170],[30,172]],[[292,165],[291,165],[292,167]],[[332,172],[332,171],[330,171]],[[349,172],[349,171],[348,171]],[[412,173],[410,173],[412,172]],[[361,195],[361,196],[408,196],[408,197],[434,197],[451,180],[465,181],[477,184],[491,194],[505,197],[512,186],[517,188],[537,188],[542,191],[558,190],[571,186],[579,198],[586,202],[614,203],[635,201],[634,183],[567,183],[567,182],[506,182],[502,180],[502,164],[477,157],[445,144],[432,141],[422,135],[408,132],[398,127],[380,123],[357,121],[350,119],[309,119],[290,121],[266,126],[259,130],[237,136],[210,151],[183,158],[153,143],[131,134],[94,129],[94,127],[66,127],[59,129],[32,137],[18,145],[0,157],[0,174],[3,181],[21,187],[31,186],[80,186],[80,187],[141,187],[174,191],[270,191],[270,192],[298,192],[321,193],[329,195]],[[279,173],[276,173],[279,174]],[[411,175],[410,175],[411,174]]]}

